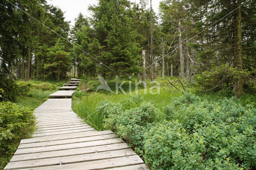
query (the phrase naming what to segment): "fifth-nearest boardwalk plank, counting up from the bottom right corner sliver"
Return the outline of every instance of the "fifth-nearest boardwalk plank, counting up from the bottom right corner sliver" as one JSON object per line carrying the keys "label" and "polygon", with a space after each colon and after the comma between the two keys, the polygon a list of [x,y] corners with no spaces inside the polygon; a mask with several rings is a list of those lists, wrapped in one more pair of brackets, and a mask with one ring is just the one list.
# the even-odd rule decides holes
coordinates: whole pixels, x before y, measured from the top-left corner
{"label": "fifth-nearest boardwalk plank, counting up from the bottom right corner sliver", "polygon": [[114,144],[114,143],[123,143],[123,142],[124,141],[120,138],[104,139],[104,140],[89,141],[89,142],[82,142],[82,143],[68,143],[68,144],[63,144],[63,145],[17,149],[15,154],[28,154],[28,153],[36,153],[36,152],[47,152],[47,151],[53,151],[53,150],[65,150],[65,149],[74,149],[74,148],[83,148],[83,147],[94,147],[94,146],[108,145],[108,144]]}

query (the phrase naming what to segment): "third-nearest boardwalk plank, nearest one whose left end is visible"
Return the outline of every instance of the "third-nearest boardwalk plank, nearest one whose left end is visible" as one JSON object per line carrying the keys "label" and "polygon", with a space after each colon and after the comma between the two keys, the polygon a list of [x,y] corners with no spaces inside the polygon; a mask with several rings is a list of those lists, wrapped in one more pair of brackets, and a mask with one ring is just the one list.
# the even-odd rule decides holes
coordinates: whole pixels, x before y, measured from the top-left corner
{"label": "third-nearest boardwalk plank, nearest one whose left end is visible", "polygon": [[70,164],[70,163],[77,163],[77,162],[102,160],[102,159],[108,159],[108,158],[117,158],[122,156],[131,156],[135,154],[136,153],[132,149],[112,150],[112,151],[97,152],[97,153],[90,153],[90,154],[61,156],[61,157],[56,157],[54,159],[44,158],[40,160],[25,160],[25,161],[19,162],[18,164],[16,162],[10,162],[6,166],[6,168],[12,170],[17,168],[34,168],[34,167],[40,167],[40,166],[53,166],[53,165],[59,165],[60,161],[62,161],[62,164]]}

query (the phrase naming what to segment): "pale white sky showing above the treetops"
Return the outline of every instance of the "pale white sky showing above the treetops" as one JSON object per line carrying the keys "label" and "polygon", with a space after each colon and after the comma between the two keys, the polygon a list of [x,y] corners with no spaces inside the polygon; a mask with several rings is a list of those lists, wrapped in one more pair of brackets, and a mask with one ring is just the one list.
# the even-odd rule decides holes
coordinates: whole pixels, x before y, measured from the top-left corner
{"label": "pale white sky showing above the treetops", "polygon": [[[130,0],[131,2],[139,2],[139,0]],[[158,13],[158,6],[160,0],[152,0],[152,8],[154,12]],[[98,0],[47,0],[48,4],[53,4],[62,9],[66,21],[71,21],[71,25],[74,25],[74,20],[81,12],[84,16],[90,17],[88,6],[97,4]],[[148,0],[148,8],[150,1]]]}

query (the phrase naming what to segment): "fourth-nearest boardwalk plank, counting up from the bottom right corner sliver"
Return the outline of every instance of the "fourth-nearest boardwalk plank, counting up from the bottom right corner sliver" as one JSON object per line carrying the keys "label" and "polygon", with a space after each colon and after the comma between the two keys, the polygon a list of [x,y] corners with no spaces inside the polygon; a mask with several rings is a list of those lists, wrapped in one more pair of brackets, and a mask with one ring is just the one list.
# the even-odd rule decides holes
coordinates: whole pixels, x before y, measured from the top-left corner
{"label": "fourth-nearest boardwalk plank, counting up from the bottom right corner sliver", "polygon": [[116,143],[116,144],[102,145],[102,146],[96,146],[96,147],[83,147],[83,148],[68,149],[68,150],[54,150],[49,152],[20,154],[20,155],[14,155],[10,160],[10,162],[16,162],[21,160],[34,160],[34,159],[42,159],[42,158],[54,158],[58,156],[88,154],[88,153],[104,152],[104,151],[127,149],[127,148],[129,147],[126,145],[126,143]]}

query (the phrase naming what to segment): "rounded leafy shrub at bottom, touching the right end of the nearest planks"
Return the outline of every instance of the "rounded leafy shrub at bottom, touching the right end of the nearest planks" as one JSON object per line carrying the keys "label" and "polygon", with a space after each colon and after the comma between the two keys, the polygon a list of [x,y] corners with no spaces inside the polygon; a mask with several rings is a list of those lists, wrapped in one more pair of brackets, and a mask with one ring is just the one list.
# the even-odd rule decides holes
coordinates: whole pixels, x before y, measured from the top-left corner
{"label": "rounded leafy shrub at bottom, touching the right end of the nearest planks", "polygon": [[204,142],[191,140],[179,123],[157,123],[144,136],[145,163],[151,169],[203,168]]}

